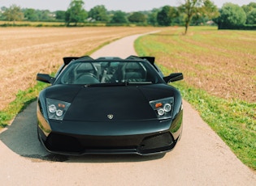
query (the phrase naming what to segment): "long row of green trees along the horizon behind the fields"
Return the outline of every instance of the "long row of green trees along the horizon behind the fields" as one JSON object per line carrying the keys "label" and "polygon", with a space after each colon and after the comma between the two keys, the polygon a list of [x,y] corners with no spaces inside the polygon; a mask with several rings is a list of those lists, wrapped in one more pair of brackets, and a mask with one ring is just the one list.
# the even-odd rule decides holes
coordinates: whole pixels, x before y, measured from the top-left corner
{"label": "long row of green trees along the horizon behind the fields", "polygon": [[2,6],[0,19],[12,21],[63,22],[67,26],[79,23],[106,23],[106,25],[152,25],[184,26],[187,32],[189,25],[217,24],[219,29],[244,27],[256,24],[256,2],[238,6],[230,2],[218,9],[210,0],[184,0],[180,6],[163,6],[151,11],[108,11],[103,5],[94,6],[85,11],[83,0],[72,0],[67,11],[21,9],[20,6]]}

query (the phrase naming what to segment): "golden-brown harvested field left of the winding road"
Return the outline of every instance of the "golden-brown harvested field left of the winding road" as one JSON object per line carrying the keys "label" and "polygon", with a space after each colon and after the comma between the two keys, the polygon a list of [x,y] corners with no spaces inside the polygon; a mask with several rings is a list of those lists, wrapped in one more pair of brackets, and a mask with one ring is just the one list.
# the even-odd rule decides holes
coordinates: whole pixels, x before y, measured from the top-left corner
{"label": "golden-brown harvested field left of the winding road", "polygon": [[50,74],[62,57],[84,56],[102,44],[156,27],[3,27],[0,28],[0,110],[19,90],[36,83],[36,74]]}

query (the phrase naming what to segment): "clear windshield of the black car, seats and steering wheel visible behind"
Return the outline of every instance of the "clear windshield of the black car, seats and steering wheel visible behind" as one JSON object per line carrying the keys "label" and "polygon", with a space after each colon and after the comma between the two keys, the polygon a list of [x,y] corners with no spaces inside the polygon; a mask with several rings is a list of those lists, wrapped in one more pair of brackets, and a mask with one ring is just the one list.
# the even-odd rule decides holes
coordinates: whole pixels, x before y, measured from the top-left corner
{"label": "clear windshield of the black car, seats and steering wheel visible behind", "polygon": [[163,82],[147,61],[76,61],[67,66],[57,84],[148,84]]}

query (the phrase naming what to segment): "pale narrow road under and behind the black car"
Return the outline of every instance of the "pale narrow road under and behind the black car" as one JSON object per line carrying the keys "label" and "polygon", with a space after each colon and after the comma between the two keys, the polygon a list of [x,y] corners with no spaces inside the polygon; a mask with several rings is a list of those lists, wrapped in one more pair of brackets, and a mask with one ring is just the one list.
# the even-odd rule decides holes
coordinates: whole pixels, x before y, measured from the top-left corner
{"label": "pale narrow road under and behind the black car", "polygon": [[[92,57],[136,54],[128,36]],[[256,185],[256,173],[241,163],[184,101],[184,132],[165,155],[49,154],[37,141],[36,103],[0,133],[0,185]]]}

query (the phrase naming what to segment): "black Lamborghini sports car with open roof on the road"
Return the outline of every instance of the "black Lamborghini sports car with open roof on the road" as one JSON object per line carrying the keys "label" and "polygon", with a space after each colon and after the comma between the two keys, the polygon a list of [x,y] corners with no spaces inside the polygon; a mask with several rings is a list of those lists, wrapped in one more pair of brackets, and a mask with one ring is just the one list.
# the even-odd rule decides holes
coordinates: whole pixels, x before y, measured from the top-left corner
{"label": "black Lamborghini sports car with open roof on the road", "polygon": [[163,77],[154,57],[64,57],[38,96],[37,133],[54,154],[158,154],[182,133],[180,92]]}

